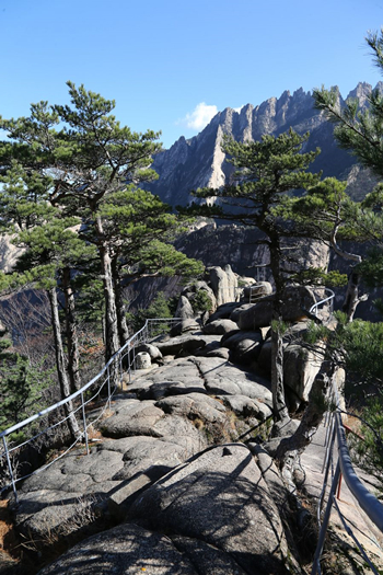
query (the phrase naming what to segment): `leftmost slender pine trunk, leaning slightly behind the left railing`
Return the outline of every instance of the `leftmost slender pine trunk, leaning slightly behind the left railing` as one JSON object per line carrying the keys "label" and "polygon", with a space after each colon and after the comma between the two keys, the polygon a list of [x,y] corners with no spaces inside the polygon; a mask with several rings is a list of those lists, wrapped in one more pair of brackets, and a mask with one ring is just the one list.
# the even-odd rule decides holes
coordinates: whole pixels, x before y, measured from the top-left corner
{"label": "leftmost slender pine trunk, leaning slightly behind the left railing", "polygon": [[[70,386],[66,370],[56,288],[50,288],[48,290],[48,297],[50,301],[51,324],[54,330],[57,375],[60,384],[61,399],[63,400],[65,398],[68,398],[70,395]],[[74,439],[77,439],[80,436],[80,429],[79,424],[73,414],[73,404],[71,401],[65,404],[65,413],[68,417],[67,422],[70,435],[72,437],[72,440],[74,441]]]}

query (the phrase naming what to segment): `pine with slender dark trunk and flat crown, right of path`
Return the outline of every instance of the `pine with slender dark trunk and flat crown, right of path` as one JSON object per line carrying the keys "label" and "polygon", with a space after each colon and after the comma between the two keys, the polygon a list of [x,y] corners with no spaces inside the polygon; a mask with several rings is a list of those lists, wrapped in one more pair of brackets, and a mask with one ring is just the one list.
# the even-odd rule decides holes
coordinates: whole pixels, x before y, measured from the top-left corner
{"label": "pine with slender dark trunk and flat crown, right of path", "polygon": [[282,294],[287,280],[282,239],[294,237],[297,230],[277,214],[285,196],[293,191],[307,189],[321,175],[306,171],[320,150],[301,153],[309,134],[300,136],[292,129],[278,137],[263,136],[260,141],[237,142],[224,139],[222,150],[236,168],[234,183],[220,189],[199,189],[200,198],[216,198],[218,205],[195,207],[194,212],[254,226],[264,232],[270,268],[276,286],[271,330],[271,388],[276,423],[288,421],[283,392],[283,352],[281,333]]}

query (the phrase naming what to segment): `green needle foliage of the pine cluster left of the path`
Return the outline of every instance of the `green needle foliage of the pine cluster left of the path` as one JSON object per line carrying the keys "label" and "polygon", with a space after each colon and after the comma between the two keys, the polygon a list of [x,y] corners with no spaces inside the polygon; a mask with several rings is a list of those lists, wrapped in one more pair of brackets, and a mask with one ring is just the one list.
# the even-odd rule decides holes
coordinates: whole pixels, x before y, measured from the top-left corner
{"label": "green needle foliage of the pine cluster left of the path", "polygon": [[[104,297],[112,355],[118,345],[112,318],[121,309],[114,300],[123,283],[198,275],[202,267],[171,245],[184,221],[138,187],[158,177],[151,164],[162,147],[160,133],[132,131],[113,115],[114,101],[72,82],[68,88],[69,105],[39,102],[28,117],[0,120],[9,137],[0,141],[0,231],[16,232],[13,242],[25,249],[19,283],[74,291],[82,319],[91,321],[101,320]],[[0,277],[2,285],[10,287]],[[71,325],[72,308],[65,310]]]}

